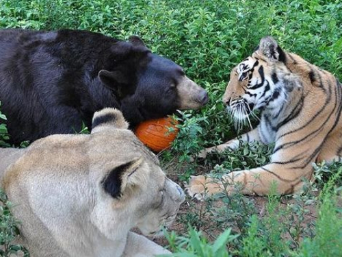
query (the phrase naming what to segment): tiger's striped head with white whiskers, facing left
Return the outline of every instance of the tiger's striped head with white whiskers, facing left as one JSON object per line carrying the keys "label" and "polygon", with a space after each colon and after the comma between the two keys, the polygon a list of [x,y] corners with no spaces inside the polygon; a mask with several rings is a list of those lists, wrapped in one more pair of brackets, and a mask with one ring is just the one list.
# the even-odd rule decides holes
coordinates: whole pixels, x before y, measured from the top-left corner
{"label": "tiger's striped head with white whiskers, facing left", "polygon": [[237,121],[248,119],[253,110],[273,108],[279,101],[286,101],[287,93],[297,83],[286,61],[287,53],[267,36],[252,56],[235,66],[222,100]]}

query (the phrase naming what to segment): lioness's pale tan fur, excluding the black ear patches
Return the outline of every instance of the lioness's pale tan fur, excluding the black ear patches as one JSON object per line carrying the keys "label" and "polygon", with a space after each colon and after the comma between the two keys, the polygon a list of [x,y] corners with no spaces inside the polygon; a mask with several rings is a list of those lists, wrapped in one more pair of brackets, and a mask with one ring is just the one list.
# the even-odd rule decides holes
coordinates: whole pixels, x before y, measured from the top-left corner
{"label": "lioness's pale tan fur, excluding the black ear patches", "polygon": [[[169,253],[129,230],[159,232],[174,219],[185,196],[166,178],[159,162],[134,134],[118,110],[113,122],[92,134],[53,135],[27,149],[1,149],[2,186],[15,204],[21,238],[32,257],[153,256]],[[95,118],[94,118],[95,119]],[[10,154],[8,154],[10,153]],[[9,158],[6,158],[6,157]],[[3,163],[5,163],[3,162]],[[103,183],[109,173],[130,163],[122,174],[120,196]]]}

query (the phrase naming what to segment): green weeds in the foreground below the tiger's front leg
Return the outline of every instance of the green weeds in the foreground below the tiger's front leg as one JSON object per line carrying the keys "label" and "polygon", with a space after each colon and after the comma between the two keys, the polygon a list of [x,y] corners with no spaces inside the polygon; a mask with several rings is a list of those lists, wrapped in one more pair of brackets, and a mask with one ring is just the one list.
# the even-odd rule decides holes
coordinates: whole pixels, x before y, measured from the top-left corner
{"label": "green weeds in the foreground below the tiger's front leg", "polygon": [[[215,202],[220,199],[223,205],[215,207],[209,200],[210,208],[202,206],[199,218],[206,222],[198,230],[210,238],[213,228],[221,236],[227,235],[228,228],[234,238],[224,243],[226,246],[219,256],[341,256],[341,187],[335,186],[341,173],[342,167],[325,184],[319,197],[311,191],[285,199],[270,195],[261,211],[250,197],[216,196]],[[288,202],[283,204],[283,201]],[[313,204],[317,210],[313,210]],[[308,221],[314,215],[317,220],[314,217]],[[171,256],[203,256],[201,251],[211,246],[199,235],[192,226],[185,236],[168,234],[170,246],[176,252]]]}

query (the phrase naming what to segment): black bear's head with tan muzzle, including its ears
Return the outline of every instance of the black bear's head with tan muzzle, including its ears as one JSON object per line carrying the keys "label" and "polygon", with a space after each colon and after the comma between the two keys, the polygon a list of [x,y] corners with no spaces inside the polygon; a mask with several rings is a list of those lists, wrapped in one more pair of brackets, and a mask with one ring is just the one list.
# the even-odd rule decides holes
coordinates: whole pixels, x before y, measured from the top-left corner
{"label": "black bear's head with tan muzzle, including its ears", "polygon": [[110,51],[98,77],[114,91],[130,125],[207,103],[207,91],[189,79],[181,66],[151,53],[137,36],[116,42]]}

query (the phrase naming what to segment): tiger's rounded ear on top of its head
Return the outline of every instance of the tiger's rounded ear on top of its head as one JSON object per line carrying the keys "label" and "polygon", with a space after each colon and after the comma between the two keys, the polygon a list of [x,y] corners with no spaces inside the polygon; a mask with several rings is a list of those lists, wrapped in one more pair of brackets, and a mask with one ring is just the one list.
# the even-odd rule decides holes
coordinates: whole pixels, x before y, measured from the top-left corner
{"label": "tiger's rounded ear on top of its head", "polygon": [[271,36],[261,38],[259,51],[269,60],[285,62],[285,52],[278,46],[278,43]]}

